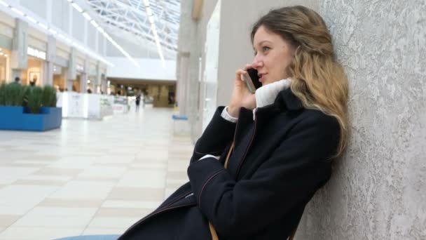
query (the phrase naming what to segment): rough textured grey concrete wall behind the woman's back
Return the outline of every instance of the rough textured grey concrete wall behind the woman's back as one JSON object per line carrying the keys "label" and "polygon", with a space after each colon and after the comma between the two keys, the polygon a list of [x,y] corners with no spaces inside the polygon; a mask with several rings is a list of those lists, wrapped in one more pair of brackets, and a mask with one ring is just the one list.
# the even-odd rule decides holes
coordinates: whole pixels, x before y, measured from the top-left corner
{"label": "rough textured grey concrete wall behind the woman's back", "polygon": [[426,239],[426,2],[322,0],[352,136],[296,239]]}

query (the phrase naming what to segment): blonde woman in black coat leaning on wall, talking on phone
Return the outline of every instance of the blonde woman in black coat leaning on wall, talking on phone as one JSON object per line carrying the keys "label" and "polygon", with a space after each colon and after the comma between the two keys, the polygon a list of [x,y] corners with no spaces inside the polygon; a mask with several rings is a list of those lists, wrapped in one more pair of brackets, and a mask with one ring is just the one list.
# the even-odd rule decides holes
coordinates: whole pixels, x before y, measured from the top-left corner
{"label": "blonde woman in black coat leaning on wall, talking on phone", "polygon": [[[347,143],[348,82],[315,11],[280,8],[252,29],[254,60],[235,74],[196,142],[190,181],[120,239],[287,239]],[[255,94],[242,75],[254,68]]]}

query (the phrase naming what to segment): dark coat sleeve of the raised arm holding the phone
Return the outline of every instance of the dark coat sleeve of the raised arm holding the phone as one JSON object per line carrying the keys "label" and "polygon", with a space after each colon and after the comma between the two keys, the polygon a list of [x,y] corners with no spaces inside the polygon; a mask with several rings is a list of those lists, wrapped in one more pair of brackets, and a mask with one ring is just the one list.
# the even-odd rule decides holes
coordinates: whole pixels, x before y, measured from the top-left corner
{"label": "dark coat sleeve of the raised arm holding the phone", "polygon": [[195,142],[191,163],[207,154],[214,156],[221,155],[224,149],[232,142],[236,124],[221,116],[224,108],[217,108],[209,125],[205,128],[205,131],[197,142]]}

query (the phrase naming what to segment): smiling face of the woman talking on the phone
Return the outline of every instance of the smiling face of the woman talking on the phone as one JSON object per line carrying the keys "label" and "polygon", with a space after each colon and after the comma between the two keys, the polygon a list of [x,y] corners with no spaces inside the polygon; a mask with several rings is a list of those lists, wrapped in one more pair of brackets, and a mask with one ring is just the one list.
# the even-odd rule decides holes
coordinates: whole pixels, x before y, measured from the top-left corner
{"label": "smiling face of the woman talking on the phone", "polygon": [[261,26],[253,39],[254,60],[252,67],[259,72],[262,85],[287,79],[287,67],[294,58],[296,48],[278,34]]}

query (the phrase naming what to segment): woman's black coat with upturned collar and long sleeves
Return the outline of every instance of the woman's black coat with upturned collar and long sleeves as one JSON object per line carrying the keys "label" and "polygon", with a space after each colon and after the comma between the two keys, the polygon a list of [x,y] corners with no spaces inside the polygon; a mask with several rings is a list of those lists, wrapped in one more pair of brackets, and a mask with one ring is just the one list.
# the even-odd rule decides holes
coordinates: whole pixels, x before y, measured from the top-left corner
{"label": "woman's black coat with upturned collar and long sleeves", "polygon": [[[256,120],[242,108],[233,124],[220,116],[223,109],[195,144],[190,181],[120,239],[212,239],[208,222],[221,240],[287,239],[305,205],[329,180],[338,121],[303,108],[289,89],[258,108]],[[221,158],[198,161],[205,154]]]}

